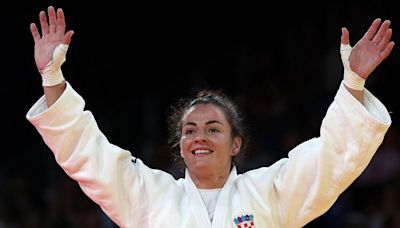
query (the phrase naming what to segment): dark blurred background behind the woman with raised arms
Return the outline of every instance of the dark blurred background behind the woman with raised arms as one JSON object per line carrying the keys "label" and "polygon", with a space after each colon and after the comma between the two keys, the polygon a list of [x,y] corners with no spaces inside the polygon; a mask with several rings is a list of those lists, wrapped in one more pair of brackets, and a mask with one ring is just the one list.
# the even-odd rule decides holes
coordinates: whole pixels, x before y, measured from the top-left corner
{"label": "dark blurred background behind the woman with raised arms", "polygon": [[75,34],[65,78],[108,139],[147,165],[169,159],[170,105],[199,88],[223,89],[246,115],[251,150],[241,172],[269,166],[319,126],[342,79],[341,27],[351,45],[377,18],[392,21],[391,56],[366,87],[393,124],[365,172],[307,227],[400,227],[399,1],[129,3],[9,2],[2,18],[0,227],[116,227],[55,163],[25,119],[42,96],[29,24],[48,5]]}

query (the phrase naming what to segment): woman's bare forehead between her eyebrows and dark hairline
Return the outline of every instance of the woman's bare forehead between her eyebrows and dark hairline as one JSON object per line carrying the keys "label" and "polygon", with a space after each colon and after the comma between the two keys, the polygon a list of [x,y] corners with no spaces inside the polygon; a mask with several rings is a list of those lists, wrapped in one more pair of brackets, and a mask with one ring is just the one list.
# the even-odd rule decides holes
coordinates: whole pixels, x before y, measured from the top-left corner
{"label": "woman's bare forehead between her eyebrows and dark hairline", "polygon": [[185,112],[182,117],[182,122],[197,122],[197,121],[219,120],[226,122],[225,113],[222,109],[214,104],[197,104],[192,106]]}

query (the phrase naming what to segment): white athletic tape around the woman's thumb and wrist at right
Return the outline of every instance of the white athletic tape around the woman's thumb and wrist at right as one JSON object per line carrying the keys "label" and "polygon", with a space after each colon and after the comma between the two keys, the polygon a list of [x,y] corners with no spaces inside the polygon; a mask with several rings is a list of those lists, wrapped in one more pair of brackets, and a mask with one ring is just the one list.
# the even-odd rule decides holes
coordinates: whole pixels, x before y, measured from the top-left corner
{"label": "white athletic tape around the woman's thumb and wrist at right", "polygon": [[344,67],[343,81],[344,84],[350,89],[363,90],[365,85],[365,79],[358,76],[354,71],[350,69],[350,54],[352,47],[350,44],[340,45],[340,55],[342,58],[342,63]]}

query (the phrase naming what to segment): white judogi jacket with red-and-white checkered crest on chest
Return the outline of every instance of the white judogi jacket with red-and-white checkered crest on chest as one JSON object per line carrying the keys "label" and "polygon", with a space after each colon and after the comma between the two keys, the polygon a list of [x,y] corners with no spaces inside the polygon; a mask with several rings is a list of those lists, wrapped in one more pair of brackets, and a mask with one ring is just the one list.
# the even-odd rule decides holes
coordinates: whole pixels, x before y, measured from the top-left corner
{"label": "white judogi jacket with red-and-white checkered crest on chest", "polygon": [[240,175],[233,168],[212,224],[187,171],[175,180],[111,144],[70,84],[49,108],[40,98],[27,118],[57,163],[120,227],[294,228],[326,212],[380,146],[391,118],[367,90],[364,99],[365,106],[342,83],[319,137],[270,167]]}

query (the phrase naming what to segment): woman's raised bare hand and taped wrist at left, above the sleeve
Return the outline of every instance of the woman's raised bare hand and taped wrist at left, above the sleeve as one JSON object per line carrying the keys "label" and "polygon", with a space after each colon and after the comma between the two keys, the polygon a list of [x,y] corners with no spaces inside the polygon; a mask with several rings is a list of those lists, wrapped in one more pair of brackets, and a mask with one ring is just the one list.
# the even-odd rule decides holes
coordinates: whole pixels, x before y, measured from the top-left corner
{"label": "woman's raised bare hand and taped wrist at left, above the sleeve", "polygon": [[30,24],[30,29],[35,42],[36,67],[42,76],[46,103],[50,107],[65,90],[61,65],[74,32],[65,32],[65,17],[61,8],[56,12],[53,6],[49,6],[47,12],[48,16],[44,11],[39,13],[41,35],[35,23]]}

